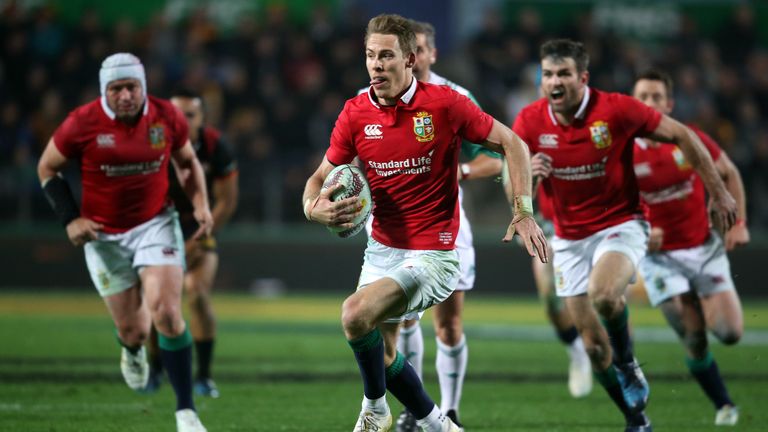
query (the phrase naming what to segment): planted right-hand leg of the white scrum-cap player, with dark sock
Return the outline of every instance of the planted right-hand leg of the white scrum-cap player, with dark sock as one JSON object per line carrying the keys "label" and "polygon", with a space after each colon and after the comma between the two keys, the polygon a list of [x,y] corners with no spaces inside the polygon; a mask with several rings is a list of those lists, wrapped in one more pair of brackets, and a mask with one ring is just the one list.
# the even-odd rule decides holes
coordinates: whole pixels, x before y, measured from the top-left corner
{"label": "planted right-hand leg of the white scrum-cap player, with dark sock", "polygon": [[[181,314],[183,270],[181,266],[148,266],[139,275],[159,334],[160,355],[176,394],[176,420],[197,420],[192,400],[192,337]],[[202,425],[200,425],[202,427]]]}

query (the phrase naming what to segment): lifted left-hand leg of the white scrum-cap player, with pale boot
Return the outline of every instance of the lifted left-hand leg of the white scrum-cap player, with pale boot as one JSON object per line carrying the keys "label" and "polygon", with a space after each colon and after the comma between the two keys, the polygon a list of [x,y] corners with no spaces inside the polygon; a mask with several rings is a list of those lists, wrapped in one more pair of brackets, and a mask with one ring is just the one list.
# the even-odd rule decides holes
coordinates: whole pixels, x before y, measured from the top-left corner
{"label": "lifted left-hand leg of the white scrum-cap player, with pale boot", "polygon": [[104,297],[112,320],[117,328],[118,342],[123,346],[120,370],[126,384],[133,390],[141,390],[149,379],[149,365],[144,341],[149,335],[150,315],[144,306],[138,285]]}

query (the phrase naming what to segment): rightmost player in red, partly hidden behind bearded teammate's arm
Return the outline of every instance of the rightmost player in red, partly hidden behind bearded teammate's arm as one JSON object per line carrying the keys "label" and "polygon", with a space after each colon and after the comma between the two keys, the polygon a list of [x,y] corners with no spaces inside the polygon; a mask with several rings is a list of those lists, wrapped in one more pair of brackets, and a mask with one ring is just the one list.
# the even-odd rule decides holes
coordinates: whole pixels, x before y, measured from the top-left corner
{"label": "rightmost player in red, partly hidden behind bearded teammate's arm", "polygon": [[[662,114],[674,107],[672,79],[648,70],[635,81],[633,95]],[[739,295],[726,250],[749,242],[741,175],[704,132],[691,128],[706,145],[728,191],[736,198],[738,219],[725,232],[725,244],[709,228],[704,185],[680,149],[651,139],[635,141],[635,175],[651,224],[648,255],[640,263],[648,299],[661,309],[685,346],[685,363],[715,405],[716,425],[735,425],[739,410],[728,395],[707,343],[710,330],[733,345],[744,331]]]}

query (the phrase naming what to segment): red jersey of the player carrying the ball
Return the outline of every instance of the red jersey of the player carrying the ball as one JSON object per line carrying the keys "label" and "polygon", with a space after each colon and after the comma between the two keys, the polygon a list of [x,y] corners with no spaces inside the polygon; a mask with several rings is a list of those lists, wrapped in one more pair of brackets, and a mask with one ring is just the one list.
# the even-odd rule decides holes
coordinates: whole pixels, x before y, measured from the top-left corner
{"label": "red jersey of the player carrying the ball", "polygon": [[355,156],[373,195],[373,238],[400,249],[450,250],[459,228],[461,140],[483,142],[493,125],[466,96],[418,82],[395,106],[372,90],[347,101],[326,157],[334,165]]}

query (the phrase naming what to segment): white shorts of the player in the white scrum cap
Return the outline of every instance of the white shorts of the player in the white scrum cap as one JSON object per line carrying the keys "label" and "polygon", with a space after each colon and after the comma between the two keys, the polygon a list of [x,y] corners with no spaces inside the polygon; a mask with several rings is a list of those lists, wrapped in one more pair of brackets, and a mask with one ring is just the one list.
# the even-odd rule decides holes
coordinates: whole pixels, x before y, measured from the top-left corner
{"label": "white shorts of the player in the white scrum cap", "polygon": [[184,236],[178,213],[169,208],[124,233],[99,233],[97,240],[85,244],[85,262],[102,297],[136,285],[144,266],[184,268]]}

